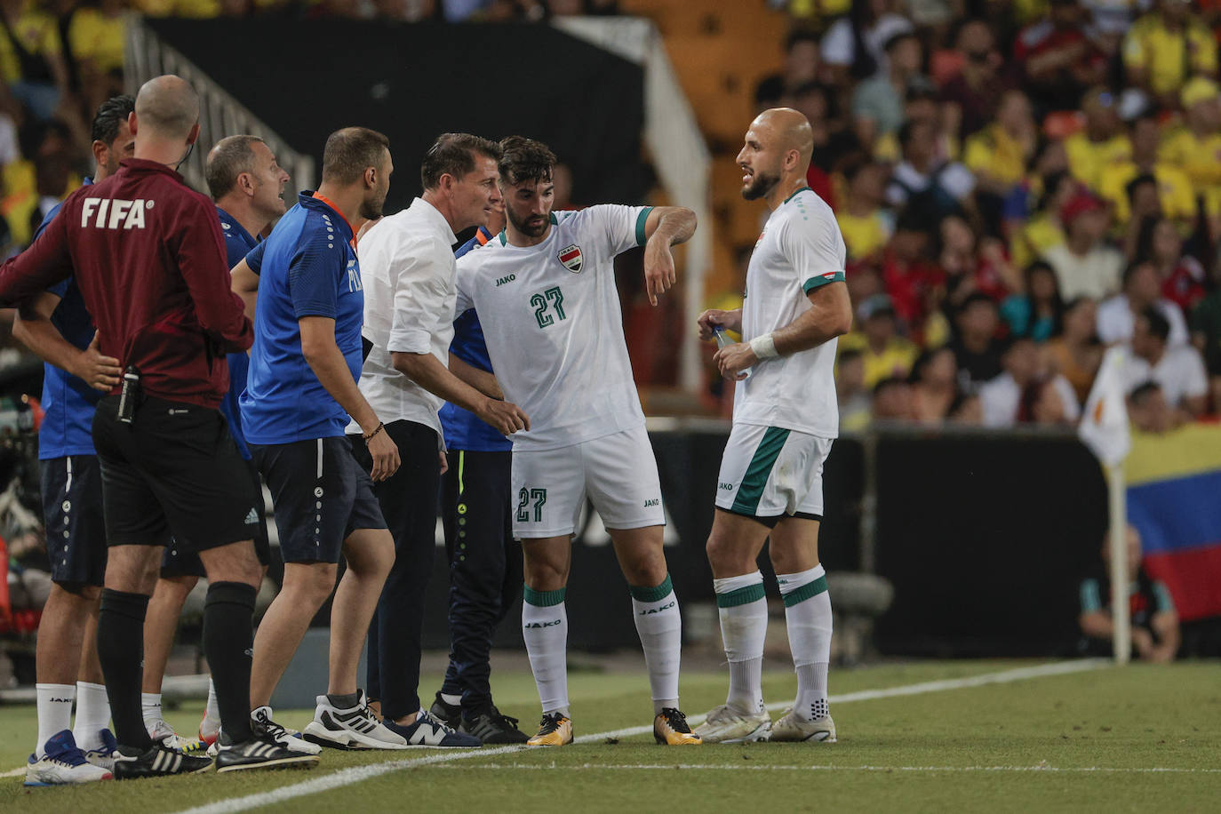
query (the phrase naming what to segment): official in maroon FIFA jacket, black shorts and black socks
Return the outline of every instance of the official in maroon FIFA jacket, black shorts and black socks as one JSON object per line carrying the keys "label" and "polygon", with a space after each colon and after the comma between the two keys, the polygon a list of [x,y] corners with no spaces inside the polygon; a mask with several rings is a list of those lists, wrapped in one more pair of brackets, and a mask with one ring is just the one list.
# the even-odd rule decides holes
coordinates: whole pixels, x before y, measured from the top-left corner
{"label": "official in maroon FIFA jacket, black shorts and black socks", "polygon": [[245,464],[217,409],[228,389],[225,354],[250,347],[242,300],[230,290],[212,201],[176,167],[199,138],[199,96],[156,77],[128,117],[134,157],[63,201],[60,217],[0,267],[0,306],[24,305],[72,275],[98,328],[98,349],[123,383],[98,403],[93,441],[101,467],[109,546],[98,657],[118,747],[116,779],[205,771],[211,760],[154,741],[140,714],[140,653],[156,566],[172,535],[208,571],[204,654],[231,744],[221,771],[313,766],[250,725],[250,638],[260,517]]}

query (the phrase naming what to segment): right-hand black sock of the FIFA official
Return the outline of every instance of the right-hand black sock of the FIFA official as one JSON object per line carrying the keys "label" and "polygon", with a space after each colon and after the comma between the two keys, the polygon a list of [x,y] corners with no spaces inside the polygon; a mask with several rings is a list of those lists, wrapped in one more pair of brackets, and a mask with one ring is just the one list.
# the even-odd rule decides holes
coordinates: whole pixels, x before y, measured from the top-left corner
{"label": "right-hand black sock of the FIFA official", "polygon": [[221,729],[230,743],[254,737],[250,731],[250,657],[256,593],[244,582],[212,582],[204,599],[204,655],[216,685]]}

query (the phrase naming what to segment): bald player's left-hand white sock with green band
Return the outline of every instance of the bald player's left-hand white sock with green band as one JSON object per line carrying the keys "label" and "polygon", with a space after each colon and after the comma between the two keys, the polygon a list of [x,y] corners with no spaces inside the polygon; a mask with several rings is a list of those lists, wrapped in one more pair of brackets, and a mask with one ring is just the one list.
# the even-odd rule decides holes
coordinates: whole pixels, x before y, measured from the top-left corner
{"label": "bald player's left-hand white sock with green band", "polygon": [[767,599],[758,571],[713,580],[720,638],[729,661],[729,696],[725,703],[737,711],[763,711],[763,639],[767,637]]}

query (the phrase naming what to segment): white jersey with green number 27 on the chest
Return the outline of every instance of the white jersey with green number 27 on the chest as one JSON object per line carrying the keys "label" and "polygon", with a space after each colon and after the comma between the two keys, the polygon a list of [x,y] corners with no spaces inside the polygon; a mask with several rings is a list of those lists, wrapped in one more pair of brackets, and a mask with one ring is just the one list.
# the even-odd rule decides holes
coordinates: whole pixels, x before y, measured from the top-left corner
{"label": "white jersey with green number 27 on the chest", "polygon": [[458,260],[457,314],[479,314],[504,398],[530,416],[514,449],[558,449],[645,422],[614,258],[645,244],[650,211],[603,204],[552,212],[538,245],[515,247],[501,232]]}

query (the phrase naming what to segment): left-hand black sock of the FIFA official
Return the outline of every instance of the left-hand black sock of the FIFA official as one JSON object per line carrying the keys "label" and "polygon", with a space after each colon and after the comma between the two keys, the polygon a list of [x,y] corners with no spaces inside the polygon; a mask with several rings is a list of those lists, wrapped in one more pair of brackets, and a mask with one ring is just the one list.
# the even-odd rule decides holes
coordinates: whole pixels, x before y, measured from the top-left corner
{"label": "left-hand black sock of the FIFA official", "polygon": [[153,746],[144,729],[140,680],[144,663],[144,614],[149,598],[103,588],[98,611],[98,660],[106,679],[115,738],[140,751]]}

